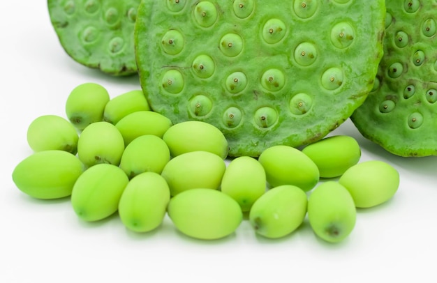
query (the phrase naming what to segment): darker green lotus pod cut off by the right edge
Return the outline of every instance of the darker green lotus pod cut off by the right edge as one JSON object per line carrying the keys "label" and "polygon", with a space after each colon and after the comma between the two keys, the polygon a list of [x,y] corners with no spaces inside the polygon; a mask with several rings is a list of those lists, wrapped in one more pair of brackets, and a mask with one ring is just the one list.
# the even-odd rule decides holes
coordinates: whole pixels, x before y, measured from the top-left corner
{"label": "darker green lotus pod cut off by the right edge", "polygon": [[380,85],[350,117],[364,137],[394,155],[437,155],[437,6],[387,0]]}

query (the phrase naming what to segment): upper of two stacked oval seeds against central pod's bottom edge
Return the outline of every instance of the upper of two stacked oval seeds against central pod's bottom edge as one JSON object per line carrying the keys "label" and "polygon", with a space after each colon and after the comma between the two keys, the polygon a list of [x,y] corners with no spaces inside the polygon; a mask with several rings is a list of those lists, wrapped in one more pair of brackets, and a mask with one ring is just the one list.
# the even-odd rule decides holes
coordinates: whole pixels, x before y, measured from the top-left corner
{"label": "upper of two stacked oval seeds against central pod's bottom edge", "polygon": [[172,125],[163,140],[175,157],[191,151],[208,151],[225,159],[228,156],[228,141],[213,125],[201,121],[186,121]]}

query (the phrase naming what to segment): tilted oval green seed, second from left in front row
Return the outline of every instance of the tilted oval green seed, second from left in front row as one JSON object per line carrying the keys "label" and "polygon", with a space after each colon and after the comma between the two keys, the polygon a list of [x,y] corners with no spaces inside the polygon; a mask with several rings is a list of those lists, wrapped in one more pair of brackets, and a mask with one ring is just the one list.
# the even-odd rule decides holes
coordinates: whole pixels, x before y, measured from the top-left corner
{"label": "tilted oval green seed, second from left in front row", "polygon": [[128,177],[119,167],[98,164],[85,170],[73,186],[71,205],[84,221],[98,221],[118,210]]}

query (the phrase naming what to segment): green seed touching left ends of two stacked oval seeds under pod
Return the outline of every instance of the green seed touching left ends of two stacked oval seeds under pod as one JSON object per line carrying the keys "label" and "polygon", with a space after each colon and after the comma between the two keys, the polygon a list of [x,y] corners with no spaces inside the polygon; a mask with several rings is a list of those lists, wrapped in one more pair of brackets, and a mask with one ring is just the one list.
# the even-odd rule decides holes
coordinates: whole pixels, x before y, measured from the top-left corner
{"label": "green seed touching left ends of two stacked oval seeds under pod", "polygon": [[133,178],[143,172],[161,174],[169,161],[170,150],[163,139],[155,135],[143,135],[124,148],[120,168],[129,178]]}

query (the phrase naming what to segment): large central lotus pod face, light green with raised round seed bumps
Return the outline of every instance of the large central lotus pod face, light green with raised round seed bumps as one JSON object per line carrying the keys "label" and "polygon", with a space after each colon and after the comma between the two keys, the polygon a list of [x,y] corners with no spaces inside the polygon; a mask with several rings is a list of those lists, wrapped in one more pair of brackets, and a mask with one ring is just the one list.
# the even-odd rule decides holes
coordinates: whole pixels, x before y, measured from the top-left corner
{"label": "large central lotus pod face, light green with raised round seed bumps", "polygon": [[346,121],[373,87],[384,31],[383,0],[145,0],[135,56],[151,109],[211,123],[231,157],[258,157]]}

